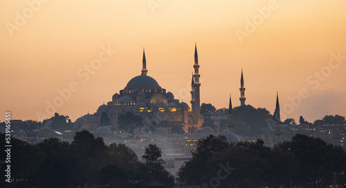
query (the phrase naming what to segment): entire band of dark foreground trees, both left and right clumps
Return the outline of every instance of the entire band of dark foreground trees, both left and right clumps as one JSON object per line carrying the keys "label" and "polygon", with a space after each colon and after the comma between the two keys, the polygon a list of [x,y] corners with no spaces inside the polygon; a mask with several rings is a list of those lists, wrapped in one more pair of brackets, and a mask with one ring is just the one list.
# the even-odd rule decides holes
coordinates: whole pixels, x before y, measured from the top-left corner
{"label": "entire band of dark foreground trees, both left and right clumps", "polygon": [[[4,134],[0,139],[5,140]],[[48,138],[37,145],[11,140],[11,180],[0,187],[172,187],[161,149],[149,145],[138,160],[126,145],[104,145],[102,138],[77,132],[73,143]],[[0,148],[5,150],[4,145]],[[6,153],[0,153],[1,160]],[[223,136],[199,140],[192,160],[179,170],[176,184],[201,187],[346,187],[346,152],[320,138],[296,135],[289,142],[265,147],[229,144]],[[165,185],[165,186],[163,186]]]}

